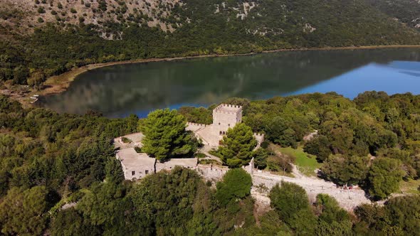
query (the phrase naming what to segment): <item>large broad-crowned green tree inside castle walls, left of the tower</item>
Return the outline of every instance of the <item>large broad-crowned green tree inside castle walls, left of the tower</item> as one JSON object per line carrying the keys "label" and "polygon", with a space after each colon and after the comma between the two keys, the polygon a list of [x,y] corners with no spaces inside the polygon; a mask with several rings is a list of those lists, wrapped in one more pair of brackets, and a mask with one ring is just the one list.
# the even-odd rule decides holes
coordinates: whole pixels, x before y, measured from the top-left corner
{"label": "large broad-crowned green tree inside castle walls, left of the tower", "polygon": [[160,161],[193,154],[197,141],[191,132],[185,130],[186,125],[187,120],[176,110],[150,112],[142,122],[141,129],[145,134],[142,151]]}

